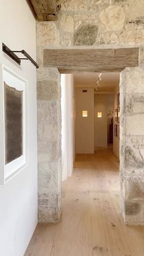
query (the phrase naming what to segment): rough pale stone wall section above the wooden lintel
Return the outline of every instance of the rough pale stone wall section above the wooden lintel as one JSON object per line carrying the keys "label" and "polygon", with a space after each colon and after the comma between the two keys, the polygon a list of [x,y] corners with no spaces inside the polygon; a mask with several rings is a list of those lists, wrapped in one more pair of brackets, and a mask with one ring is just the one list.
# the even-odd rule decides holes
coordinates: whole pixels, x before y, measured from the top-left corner
{"label": "rough pale stone wall section above the wooden lintel", "polygon": [[37,23],[37,46],[98,48],[143,43],[143,0],[66,0],[59,21]]}

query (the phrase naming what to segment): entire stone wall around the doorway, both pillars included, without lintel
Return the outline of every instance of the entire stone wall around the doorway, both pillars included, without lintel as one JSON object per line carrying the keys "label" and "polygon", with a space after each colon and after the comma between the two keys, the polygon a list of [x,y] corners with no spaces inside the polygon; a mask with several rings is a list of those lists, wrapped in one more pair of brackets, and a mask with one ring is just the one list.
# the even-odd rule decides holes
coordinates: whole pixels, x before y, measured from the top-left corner
{"label": "entire stone wall around the doorway, both pillars included, without lintel", "polygon": [[144,225],[144,1],[65,0],[59,20],[37,22],[39,221],[61,210],[60,75],[43,67],[45,48],[139,47],[139,67],[121,73],[121,211]]}

